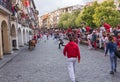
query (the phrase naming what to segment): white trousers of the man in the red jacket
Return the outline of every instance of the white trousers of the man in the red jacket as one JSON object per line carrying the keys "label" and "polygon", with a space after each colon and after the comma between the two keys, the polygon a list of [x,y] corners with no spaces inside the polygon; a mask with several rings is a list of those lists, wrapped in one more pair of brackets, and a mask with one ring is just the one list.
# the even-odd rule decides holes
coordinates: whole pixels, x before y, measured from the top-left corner
{"label": "white trousers of the man in the red jacket", "polygon": [[68,58],[68,72],[72,82],[75,82],[75,63],[77,58]]}

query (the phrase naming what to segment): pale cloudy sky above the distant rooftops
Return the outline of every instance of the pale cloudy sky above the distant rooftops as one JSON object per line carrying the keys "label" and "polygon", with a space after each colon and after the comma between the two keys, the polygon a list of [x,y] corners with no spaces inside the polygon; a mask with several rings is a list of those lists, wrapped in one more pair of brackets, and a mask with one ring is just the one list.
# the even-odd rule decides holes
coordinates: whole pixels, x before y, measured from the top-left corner
{"label": "pale cloudy sky above the distant rooftops", "polygon": [[58,8],[72,6],[76,4],[84,5],[86,2],[93,0],[34,0],[39,15],[42,16]]}

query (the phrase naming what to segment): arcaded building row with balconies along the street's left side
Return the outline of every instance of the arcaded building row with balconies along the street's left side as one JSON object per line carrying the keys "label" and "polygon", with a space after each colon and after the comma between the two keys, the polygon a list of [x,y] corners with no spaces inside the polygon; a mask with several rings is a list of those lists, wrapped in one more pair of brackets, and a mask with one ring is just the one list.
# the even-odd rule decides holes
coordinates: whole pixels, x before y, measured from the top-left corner
{"label": "arcaded building row with balconies along the street's left side", "polygon": [[0,59],[27,44],[38,28],[37,16],[34,0],[0,0]]}

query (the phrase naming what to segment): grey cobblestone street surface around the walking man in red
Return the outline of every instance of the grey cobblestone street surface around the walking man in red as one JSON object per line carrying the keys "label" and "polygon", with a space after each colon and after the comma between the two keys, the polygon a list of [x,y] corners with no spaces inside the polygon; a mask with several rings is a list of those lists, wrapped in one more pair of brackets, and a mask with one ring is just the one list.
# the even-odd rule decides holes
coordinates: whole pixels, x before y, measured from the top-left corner
{"label": "grey cobblestone street surface around the walking man in red", "polygon": [[[24,49],[0,69],[0,82],[70,82],[66,59],[56,41],[41,41],[36,48]],[[109,56],[80,45],[81,62],[76,65],[78,82],[120,82],[120,60],[115,75],[110,75]]]}

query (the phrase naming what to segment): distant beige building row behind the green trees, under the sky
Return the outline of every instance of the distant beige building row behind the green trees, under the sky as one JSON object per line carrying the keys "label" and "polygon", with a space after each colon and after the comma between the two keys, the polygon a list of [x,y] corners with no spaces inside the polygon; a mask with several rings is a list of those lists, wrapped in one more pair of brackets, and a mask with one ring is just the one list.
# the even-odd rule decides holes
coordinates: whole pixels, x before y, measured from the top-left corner
{"label": "distant beige building row behind the green trees, under the sky", "polygon": [[[40,22],[40,28],[58,28],[58,22],[60,19],[60,16],[63,13],[72,13],[74,10],[82,10],[84,8],[83,5],[74,5],[74,6],[69,6],[69,7],[64,7],[57,9],[53,12],[48,13],[48,16],[45,17],[45,15],[41,16],[39,18]],[[45,19],[43,19],[45,18]]]}

